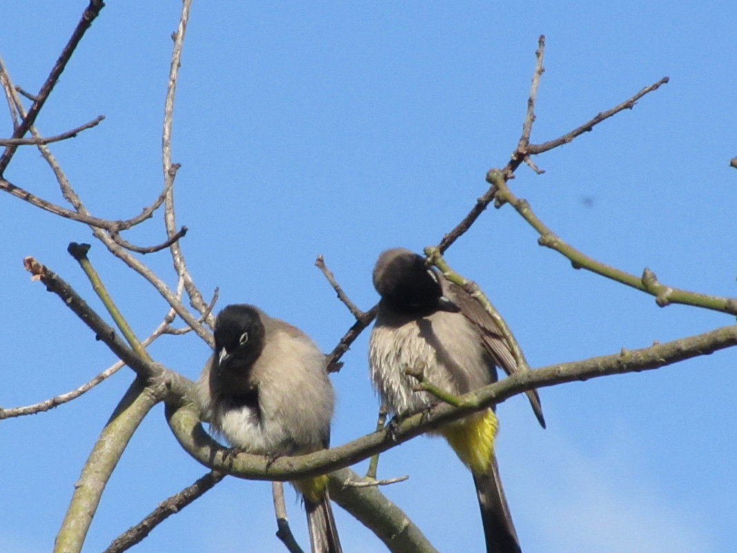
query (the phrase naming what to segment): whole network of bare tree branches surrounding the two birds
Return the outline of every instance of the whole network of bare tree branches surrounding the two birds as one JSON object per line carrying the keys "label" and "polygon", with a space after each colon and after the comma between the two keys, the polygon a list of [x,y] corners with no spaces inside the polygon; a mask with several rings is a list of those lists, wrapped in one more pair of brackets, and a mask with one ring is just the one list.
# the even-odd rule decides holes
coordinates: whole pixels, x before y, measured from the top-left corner
{"label": "whole network of bare tree branches surrounding the two birds", "polygon": [[[366,526],[383,540],[389,550],[408,553],[434,552],[433,546],[422,535],[422,532],[409,521],[405,513],[394,504],[391,504],[380,493],[380,490],[377,489],[377,484],[388,483],[387,481],[358,479],[347,467],[360,460],[373,457],[369,472],[371,476],[375,476],[377,455],[379,453],[396,447],[408,439],[412,439],[433,428],[438,428],[440,425],[458,420],[461,417],[465,417],[468,414],[487,408],[493,404],[501,403],[514,394],[521,394],[534,388],[555,386],[575,380],[587,380],[605,375],[639,372],[646,369],[665,367],[699,355],[708,355],[711,352],[733,347],[737,344],[737,326],[731,326],[681,338],[666,344],[656,344],[643,349],[632,351],[622,350],[621,352],[598,358],[561,363],[539,369],[522,370],[509,378],[504,378],[483,389],[457,398],[457,401],[453,401],[455,406],[443,404],[433,409],[430,414],[416,414],[402,420],[397,420],[391,428],[384,428],[384,419],[380,417],[380,424],[377,426],[377,431],[354,439],[344,445],[339,445],[326,451],[312,453],[308,456],[285,456],[279,459],[265,459],[263,456],[237,453],[223,448],[220,444],[214,442],[201,426],[200,414],[193,406],[191,400],[193,397],[194,383],[184,378],[178,372],[158,364],[150,358],[145,349],[148,344],[164,333],[178,334],[184,333],[189,329],[194,330],[206,344],[212,346],[212,333],[209,327],[212,327],[212,310],[217,301],[217,290],[212,301],[206,303],[202,293],[200,293],[200,290],[195,285],[194,279],[192,279],[189,273],[182,251],[181,238],[186,234],[186,226],[178,229],[175,219],[174,183],[179,164],[172,161],[172,120],[175,90],[178,82],[178,69],[181,66],[182,49],[186,35],[186,26],[189,21],[190,4],[191,0],[183,1],[178,27],[172,35],[174,45],[170,60],[166,100],[164,103],[164,125],[161,141],[163,185],[153,203],[133,218],[105,220],[91,215],[47,146],[52,142],[70,138],[76,135],[76,133],[94,127],[94,125],[97,125],[102,120],[102,116],[79,128],[71,129],[66,133],[52,137],[44,138],[38,132],[38,129],[35,128],[35,121],[38,118],[38,114],[49,99],[55,84],[59,80],[67,63],[69,63],[71,55],[77,49],[80,40],[85,35],[92,21],[97,18],[100,10],[102,10],[104,5],[102,1],[91,0],[89,2],[80,22],[74,29],[71,38],[61,52],[52,71],[49,73],[49,77],[47,77],[45,83],[43,83],[43,86],[38,91],[38,94],[24,94],[32,102],[28,110],[24,108],[21,102],[19,91],[22,89],[13,85],[9,72],[0,60],[0,84],[4,89],[10,107],[10,117],[14,123],[13,136],[0,141],[0,146],[4,145],[5,147],[4,152],[0,156],[0,190],[9,193],[15,198],[20,198],[39,209],[44,209],[60,217],[69,218],[88,225],[97,240],[114,257],[119,258],[128,268],[144,277],[161,294],[167,304],[167,313],[164,319],[148,338],[139,343],[138,338],[133,335],[133,331],[128,328],[128,324],[125,322],[122,314],[115,307],[113,300],[105,292],[104,286],[102,286],[102,282],[100,282],[94,269],[91,268],[91,264],[86,259],[86,250],[83,252],[83,255],[75,255],[75,258],[80,261],[85,274],[88,274],[93,287],[99,293],[99,296],[111,313],[113,320],[116,321],[117,326],[128,341],[126,343],[126,340],[123,340],[117,331],[107,324],[101,316],[95,313],[87,302],[63,279],[58,277],[57,274],[32,257],[28,257],[25,260],[26,268],[31,272],[34,279],[41,281],[49,291],[59,296],[63,300],[64,305],[69,307],[76,316],[84,321],[93,331],[95,338],[102,341],[111,349],[119,357],[120,361],[74,392],[53,397],[46,400],[46,402],[38,403],[36,406],[2,410],[0,411],[0,418],[38,412],[59,405],[63,401],[79,397],[80,394],[90,389],[97,382],[105,378],[105,376],[113,372],[113,370],[122,366],[122,364],[127,364],[135,373],[133,383],[125,396],[120,400],[118,406],[113,410],[113,415],[107,425],[105,425],[105,428],[102,429],[102,434],[94,445],[83,467],[82,476],[80,476],[80,480],[77,482],[74,495],[71,498],[71,503],[66,513],[66,518],[57,536],[57,551],[74,553],[80,551],[89,525],[94,518],[102,490],[105,489],[105,485],[111,476],[116,462],[122,456],[123,451],[125,451],[130,437],[133,436],[141,420],[156,403],[162,401],[166,403],[167,421],[172,433],[181,443],[182,448],[194,459],[197,459],[198,462],[210,467],[215,472],[208,473],[202,479],[195,482],[195,484],[192,484],[192,486],[186,487],[180,493],[164,501],[147,518],[144,518],[139,524],[133,526],[128,532],[124,532],[119,538],[114,540],[108,549],[108,553],[121,552],[128,549],[134,543],[138,543],[151,529],[167,518],[167,516],[173,512],[177,512],[179,509],[185,507],[186,504],[191,503],[191,501],[194,501],[202,493],[206,492],[206,490],[217,484],[225,474],[232,474],[246,479],[284,481],[303,476],[314,476],[325,473],[326,471],[332,471],[330,475],[330,486],[331,494],[335,498],[335,501],[348,510],[355,518],[363,522],[363,524],[366,524]],[[528,164],[535,172],[542,173],[532,161],[532,155],[539,155],[571,142],[577,136],[593,130],[595,125],[604,122],[604,120],[618,114],[620,111],[633,108],[635,103],[646,94],[657,90],[657,88],[668,82],[668,77],[664,77],[656,83],[643,88],[628,100],[606,111],[601,111],[593,119],[584,122],[572,131],[556,139],[536,145],[531,143],[531,135],[536,119],[535,104],[537,101],[537,91],[542,74],[545,71],[543,67],[544,53],[545,38],[541,36],[536,52],[536,64],[532,77],[531,91],[527,100],[527,110],[517,147],[515,147],[506,165],[501,170],[489,173],[488,181],[490,187],[481,198],[475,201],[469,213],[450,232],[444,234],[437,246],[430,247],[426,250],[428,260],[435,263],[439,268],[443,268],[444,262],[441,255],[471,228],[475,220],[486,210],[486,207],[492,201],[496,201],[497,204],[508,203],[514,206],[514,209],[517,209],[517,212],[539,232],[540,243],[542,245],[555,248],[560,253],[566,255],[577,268],[587,268],[604,277],[612,278],[618,282],[646,291],[647,293],[652,293],[656,296],[658,305],[680,302],[695,307],[706,307],[724,313],[737,314],[737,300],[735,299],[718,298],[706,294],[680,291],[677,288],[660,284],[657,278],[654,277],[654,274],[652,274],[652,271],[645,271],[643,277],[635,277],[625,274],[623,271],[608,268],[607,265],[583,256],[580,252],[563,243],[559,237],[553,234],[534,215],[525,201],[516,198],[512,194],[508,182],[511,178],[514,178],[514,173],[521,164]],[[30,133],[32,137],[25,138],[27,133]],[[38,147],[41,155],[57,178],[60,192],[63,198],[71,205],[71,209],[40,198],[30,192],[29,188],[18,186],[4,178],[5,169],[13,160],[15,151],[21,145],[35,145]],[[733,165],[737,166],[734,160]],[[162,205],[164,206],[166,240],[163,240],[156,246],[136,246],[122,237],[122,232],[133,228],[133,226],[142,223],[144,220],[150,219],[154,212]],[[152,254],[167,248],[170,251],[172,265],[177,277],[177,288],[175,290],[169,288],[162,277],[151,271],[148,265],[144,264],[139,257],[134,255]],[[79,253],[80,251],[77,250],[77,254]],[[340,288],[334,275],[326,268],[322,257],[318,257],[316,265],[323,271],[333,290],[338,294],[338,298],[348,307],[355,319],[352,326],[340,338],[335,349],[328,356],[328,368],[333,371],[340,368],[340,358],[343,353],[346,352],[357,336],[374,319],[377,306],[371,307],[371,309],[366,311],[360,310],[351,302],[342,288]],[[447,269],[446,272],[450,274],[450,269]],[[453,274],[453,277],[457,278],[458,282],[462,282],[469,287],[471,286],[471,283],[467,279],[464,279],[464,277],[455,274]],[[483,293],[481,291],[473,288],[469,288],[469,291],[475,293],[483,303]],[[183,296],[185,293],[191,310],[184,305]],[[487,308],[490,307],[487,306]],[[184,321],[184,324],[187,325],[186,328],[172,328],[171,325],[176,317]],[[500,317],[498,322],[500,327],[506,327],[506,324],[504,324],[503,319]],[[511,344],[516,344],[511,333],[508,333],[507,339]],[[524,366],[526,362],[524,361],[521,349],[519,347],[514,347],[514,349],[518,363],[520,366]],[[439,397],[443,397],[441,390],[436,390],[436,393]],[[286,521],[286,516],[282,516],[282,514],[279,511],[277,518]],[[279,526],[279,529],[280,531],[284,529],[283,525]]]}

